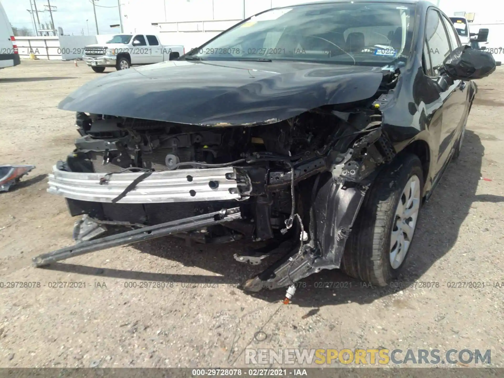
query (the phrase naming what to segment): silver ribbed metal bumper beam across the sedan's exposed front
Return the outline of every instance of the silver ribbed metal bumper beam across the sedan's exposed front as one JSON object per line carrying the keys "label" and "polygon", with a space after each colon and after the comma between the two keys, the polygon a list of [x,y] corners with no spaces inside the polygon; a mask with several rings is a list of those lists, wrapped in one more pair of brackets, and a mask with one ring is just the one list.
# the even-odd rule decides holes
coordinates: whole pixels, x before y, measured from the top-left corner
{"label": "silver ribbed metal bumper beam across the sedan's exposed front", "polygon": [[[67,172],[52,167],[48,193],[81,201],[112,203],[144,172],[111,173],[100,184],[104,173]],[[146,204],[193,201],[225,201],[246,198],[240,194],[233,167],[183,169],[153,172],[117,201],[120,204]]]}

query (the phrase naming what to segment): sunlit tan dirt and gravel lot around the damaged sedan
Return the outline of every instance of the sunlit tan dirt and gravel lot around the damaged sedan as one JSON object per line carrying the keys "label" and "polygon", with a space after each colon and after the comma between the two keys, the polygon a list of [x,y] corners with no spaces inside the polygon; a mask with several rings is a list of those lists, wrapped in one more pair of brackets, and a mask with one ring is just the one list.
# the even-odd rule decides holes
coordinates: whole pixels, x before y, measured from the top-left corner
{"label": "sunlit tan dirt and gravel lot around the damaged sedan", "polygon": [[[290,305],[284,290],[236,288],[261,270],[234,261],[239,245],[191,249],[163,238],[31,267],[72,244],[75,219],[46,193],[51,165],[77,136],[74,113],[56,105],[99,76],[82,62],[23,60],[0,71],[0,163],[37,166],[0,195],[0,366],[238,367],[247,346],[491,349],[492,365],[504,366],[504,288],[494,284],[504,281],[504,69],[478,83],[461,159],[423,208],[401,280],[370,288],[326,271]],[[27,281],[40,287],[7,288]],[[449,287],[459,281],[485,285]]]}

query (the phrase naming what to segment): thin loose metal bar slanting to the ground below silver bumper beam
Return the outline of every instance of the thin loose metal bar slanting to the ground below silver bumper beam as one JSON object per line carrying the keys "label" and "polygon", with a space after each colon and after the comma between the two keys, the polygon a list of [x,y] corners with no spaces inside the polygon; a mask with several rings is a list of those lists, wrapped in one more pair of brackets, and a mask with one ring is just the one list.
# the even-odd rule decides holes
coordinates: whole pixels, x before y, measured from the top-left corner
{"label": "thin loose metal bar slanting to the ground below silver bumper beam", "polygon": [[101,249],[155,239],[157,237],[167,236],[178,232],[191,231],[200,227],[214,226],[237,219],[241,219],[241,213],[240,209],[236,207],[232,209],[223,209],[213,213],[197,215],[195,217],[156,224],[154,226],[121,232],[100,239],[83,241],[74,246],[61,248],[48,254],[39,255],[33,258],[33,265],[35,267],[42,267],[50,263],[55,263],[56,261],[70,259],[71,257],[88,254]]}

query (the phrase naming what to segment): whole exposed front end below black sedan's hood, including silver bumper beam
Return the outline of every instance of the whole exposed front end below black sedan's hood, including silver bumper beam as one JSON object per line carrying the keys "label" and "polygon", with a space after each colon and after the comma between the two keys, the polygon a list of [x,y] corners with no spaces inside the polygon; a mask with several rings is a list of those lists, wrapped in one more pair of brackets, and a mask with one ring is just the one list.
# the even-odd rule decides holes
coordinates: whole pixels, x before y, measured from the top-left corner
{"label": "whole exposed front end below black sedan's hood, including silver bumper beam", "polygon": [[[96,250],[92,239],[110,228],[145,236],[166,224],[163,235],[188,243],[268,241],[234,256],[254,265],[281,256],[244,284],[250,291],[338,268],[376,166],[395,155],[379,108],[369,101],[333,105],[253,127],[79,112],[81,137],[55,166],[48,189],[66,197],[72,216],[84,215],[74,229],[82,250],[65,254]],[[214,219],[189,226],[205,216]],[[118,245],[118,237],[96,242],[102,249]]]}

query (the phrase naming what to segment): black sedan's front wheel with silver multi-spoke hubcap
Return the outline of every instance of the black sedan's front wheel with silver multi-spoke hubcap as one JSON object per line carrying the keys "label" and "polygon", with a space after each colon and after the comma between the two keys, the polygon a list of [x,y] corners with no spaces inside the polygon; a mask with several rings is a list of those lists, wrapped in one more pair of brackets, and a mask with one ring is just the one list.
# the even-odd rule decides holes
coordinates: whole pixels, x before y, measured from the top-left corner
{"label": "black sedan's front wheel with silver multi-spoke hubcap", "polygon": [[422,164],[413,154],[399,156],[378,174],[345,246],[347,275],[377,286],[397,278],[413,240],[423,182]]}

